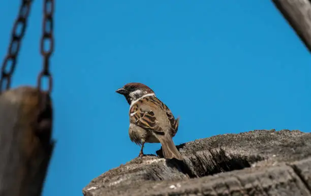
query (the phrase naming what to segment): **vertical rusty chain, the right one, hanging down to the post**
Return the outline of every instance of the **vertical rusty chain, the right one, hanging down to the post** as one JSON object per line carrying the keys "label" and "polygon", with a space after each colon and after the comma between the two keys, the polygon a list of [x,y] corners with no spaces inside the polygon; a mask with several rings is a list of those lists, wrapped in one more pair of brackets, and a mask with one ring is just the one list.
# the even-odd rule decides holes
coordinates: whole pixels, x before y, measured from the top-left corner
{"label": "vertical rusty chain, the right one, hanging down to the post", "polygon": [[48,79],[48,88],[46,90],[48,93],[52,91],[53,80],[49,70],[49,59],[54,51],[53,14],[54,0],[44,0],[41,37],[41,55],[43,57],[43,68],[38,76],[38,89],[42,91],[42,80],[44,77],[46,77]]}

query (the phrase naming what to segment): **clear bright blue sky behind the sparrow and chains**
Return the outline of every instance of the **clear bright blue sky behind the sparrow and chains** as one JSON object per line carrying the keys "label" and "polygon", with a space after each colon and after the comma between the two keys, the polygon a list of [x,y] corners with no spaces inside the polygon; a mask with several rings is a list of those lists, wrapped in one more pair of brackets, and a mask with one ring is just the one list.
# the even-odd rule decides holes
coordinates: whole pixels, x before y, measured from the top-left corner
{"label": "clear bright blue sky behind the sparrow and chains", "polygon": [[[0,6],[4,57],[19,2]],[[44,196],[82,195],[135,158],[129,106],[151,87],[177,117],[175,144],[254,129],[310,132],[311,55],[270,1],[56,1],[54,132]],[[13,87],[36,84],[42,1],[34,1]],[[145,145],[155,153],[160,144]]]}

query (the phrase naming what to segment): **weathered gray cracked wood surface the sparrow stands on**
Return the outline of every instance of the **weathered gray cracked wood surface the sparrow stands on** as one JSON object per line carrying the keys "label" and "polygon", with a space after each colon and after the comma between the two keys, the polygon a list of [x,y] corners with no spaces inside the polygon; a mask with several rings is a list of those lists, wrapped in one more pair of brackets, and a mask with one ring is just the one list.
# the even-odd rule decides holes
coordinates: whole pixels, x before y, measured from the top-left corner
{"label": "weathered gray cracked wood surface the sparrow stands on", "polygon": [[[134,158],[93,179],[95,195],[311,195],[311,134],[254,130],[177,146],[184,161]],[[126,153],[126,152],[123,152]],[[157,151],[161,156],[161,150]]]}

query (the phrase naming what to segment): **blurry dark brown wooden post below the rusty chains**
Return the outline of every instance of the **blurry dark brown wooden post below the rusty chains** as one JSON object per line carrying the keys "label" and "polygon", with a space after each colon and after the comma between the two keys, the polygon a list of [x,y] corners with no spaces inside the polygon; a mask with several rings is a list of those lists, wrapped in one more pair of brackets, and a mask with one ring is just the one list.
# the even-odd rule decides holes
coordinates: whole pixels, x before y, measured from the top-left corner
{"label": "blurry dark brown wooden post below the rusty chains", "polygon": [[51,130],[47,94],[19,87],[0,95],[0,195],[41,195],[54,145]]}

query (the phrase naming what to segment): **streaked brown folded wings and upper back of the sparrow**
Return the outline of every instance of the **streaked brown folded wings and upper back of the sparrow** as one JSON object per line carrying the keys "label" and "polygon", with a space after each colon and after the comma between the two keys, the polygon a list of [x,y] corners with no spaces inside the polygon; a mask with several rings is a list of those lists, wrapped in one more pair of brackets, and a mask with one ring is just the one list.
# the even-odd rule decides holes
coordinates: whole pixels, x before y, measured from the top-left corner
{"label": "streaked brown folded wings and upper back of the sparrow", "polygon": [[147,96],[134,104],[130,110],[130,121],[142,128],[152,130],[159,135],[164,135],[165,132],[161,127],[154,110],[162,110],[166,113],[171,127],[171,135],[175,136],[178,129],[178,120],[175,120],[172,112],[155,96]]}

